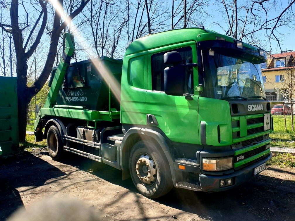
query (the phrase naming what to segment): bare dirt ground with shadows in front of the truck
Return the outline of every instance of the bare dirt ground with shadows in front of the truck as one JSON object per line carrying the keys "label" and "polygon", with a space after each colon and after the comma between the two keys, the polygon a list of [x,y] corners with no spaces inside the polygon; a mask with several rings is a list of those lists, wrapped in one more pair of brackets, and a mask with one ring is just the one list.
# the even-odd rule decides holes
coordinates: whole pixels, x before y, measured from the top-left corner
{"label": "bare dirt ground with shadows in front of the truck", "polygon": [[295,169],[272,166],[230,191],[173,188],[153,200],[121,171],[82,156],[57,162],[46,151],[24,152],[0,161],[0,220],[50,196],[81,199],[104,220],[295,220]]}

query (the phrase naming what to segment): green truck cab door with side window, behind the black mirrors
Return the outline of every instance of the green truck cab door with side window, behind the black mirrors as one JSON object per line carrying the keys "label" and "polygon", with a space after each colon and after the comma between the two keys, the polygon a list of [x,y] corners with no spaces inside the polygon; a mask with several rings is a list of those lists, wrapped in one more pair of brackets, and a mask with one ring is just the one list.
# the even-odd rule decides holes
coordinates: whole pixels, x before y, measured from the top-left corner
{"label": "green truck cab door with side window, behind the black mirrors", "polygon": [[[198,136],[198,85],[196,67],[186,68],[186,93],[184,96],[167,95],[164,92],[163,73],[165,65],[163,55],[169,51],[181,54],[183,64],[197,63],[196,42],[185,42],[148,51],[148,90],[146,93],[146,113],[154,115],[160,129],[172,141],[199,144]],[[171,66],[171,65],[170,65]]]}

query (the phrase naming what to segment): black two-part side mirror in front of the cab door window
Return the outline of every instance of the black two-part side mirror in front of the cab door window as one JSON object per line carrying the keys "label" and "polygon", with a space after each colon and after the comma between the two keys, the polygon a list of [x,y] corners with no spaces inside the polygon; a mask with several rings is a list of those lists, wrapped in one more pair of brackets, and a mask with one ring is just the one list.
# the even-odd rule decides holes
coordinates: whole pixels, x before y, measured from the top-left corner
{"label": "black two-part side mirror in front of the cab door window", "polygon": [[164,70],[164,91],[168,95],[182,96],[185,88],[185,67],[181,65],[182,57],[178,52],[164,54],[164,62],[172,67]]}

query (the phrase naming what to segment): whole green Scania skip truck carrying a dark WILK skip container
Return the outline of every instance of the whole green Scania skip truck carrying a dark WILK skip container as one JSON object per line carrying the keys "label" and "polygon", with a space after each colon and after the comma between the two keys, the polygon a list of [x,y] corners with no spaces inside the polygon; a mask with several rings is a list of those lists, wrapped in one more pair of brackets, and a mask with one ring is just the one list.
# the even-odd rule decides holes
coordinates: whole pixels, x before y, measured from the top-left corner
{"label": "whole green Scania skip truck carrying a dark WILK skip container", "polygon": [[186,28],[133,41],[123,60],[70,64],[74,38],[65,39],[35,121],[54,160],[69,151],[108,164],[150,198],[173,186],[227,190],[271,164],[263,50]]}

